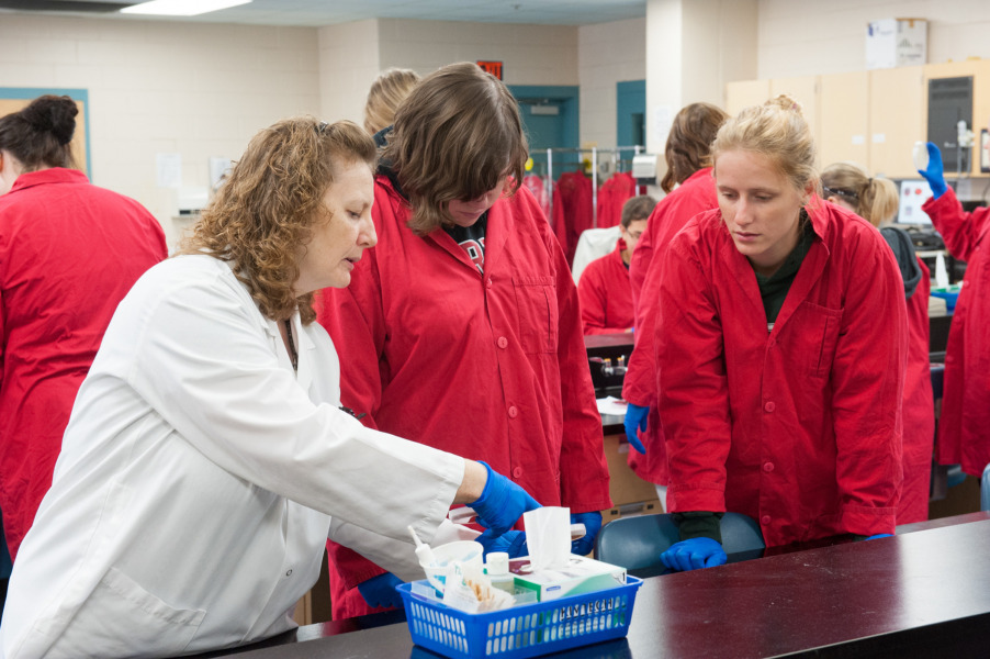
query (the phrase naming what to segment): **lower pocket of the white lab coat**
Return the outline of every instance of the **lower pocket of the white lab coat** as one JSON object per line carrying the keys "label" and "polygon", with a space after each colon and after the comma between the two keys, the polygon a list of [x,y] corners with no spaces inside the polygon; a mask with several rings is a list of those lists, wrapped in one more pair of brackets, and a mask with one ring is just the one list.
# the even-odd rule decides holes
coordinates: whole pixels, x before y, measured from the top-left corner
{"label": "lower pocket of the white lab coat", "polygon": [[205,611],[176,608],[111,568],[47,657],[162,657],[182,652]]}

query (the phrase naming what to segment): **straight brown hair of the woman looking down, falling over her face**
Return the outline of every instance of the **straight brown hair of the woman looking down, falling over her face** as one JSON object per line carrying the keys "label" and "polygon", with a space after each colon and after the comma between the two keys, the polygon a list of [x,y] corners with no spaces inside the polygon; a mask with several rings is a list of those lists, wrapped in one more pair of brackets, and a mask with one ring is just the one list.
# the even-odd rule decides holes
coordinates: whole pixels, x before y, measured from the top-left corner
{"label": "straight brown hair of the woman looking down, falling over her face", "polygon": [[448,204],[477,199],[511,177],[522,185],[529,145],[519,107],[500,80],[472,63],[445,66],[417,85],[395,113],[383,158],[391,163],[426,235],[453,224]]}

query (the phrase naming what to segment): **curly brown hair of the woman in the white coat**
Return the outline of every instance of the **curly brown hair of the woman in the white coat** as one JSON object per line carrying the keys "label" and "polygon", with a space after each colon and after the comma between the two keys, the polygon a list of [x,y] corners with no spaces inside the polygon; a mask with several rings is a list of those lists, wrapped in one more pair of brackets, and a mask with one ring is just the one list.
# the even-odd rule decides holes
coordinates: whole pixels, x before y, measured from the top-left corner
{"label": "curly brown hair of the woman in the white coat", "polygon": [[299,310],[312,323],[313,293],[292,290],[301,247],[312,226],[327,221],[323,197],[339,166],[371,168],[374,158],[374,142],[353,122],[280,121],[251,138],[179,254],[233,263],[262,314],[281,321]]}

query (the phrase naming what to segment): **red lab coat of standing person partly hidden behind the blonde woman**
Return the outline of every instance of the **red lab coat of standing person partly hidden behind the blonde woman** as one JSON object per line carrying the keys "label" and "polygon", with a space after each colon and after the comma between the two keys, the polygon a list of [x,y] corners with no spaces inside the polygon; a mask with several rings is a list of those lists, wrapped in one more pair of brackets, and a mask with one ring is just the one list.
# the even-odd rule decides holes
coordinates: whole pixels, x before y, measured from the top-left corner
{"label": "red lab coat of standing person partly hidden behind the blonde woman", "polygon": [[683,183],[660,200],[646,231],[640,237],[629,264],[629,281],[635,304],[635,338],[629,370],[622,381],[622,398],[637,405],[649,406],[646,432],[640,439],[646,455],[629,449],[630,468],[643,480],[666,484],[667,463],[663,428],[656,411],[656,370],[653,353],[653,334],[656,324],[656,300],[660,294],[663,254],[688,220],[702,211],[717,209],[718,198],[711,167],[699,169]]}

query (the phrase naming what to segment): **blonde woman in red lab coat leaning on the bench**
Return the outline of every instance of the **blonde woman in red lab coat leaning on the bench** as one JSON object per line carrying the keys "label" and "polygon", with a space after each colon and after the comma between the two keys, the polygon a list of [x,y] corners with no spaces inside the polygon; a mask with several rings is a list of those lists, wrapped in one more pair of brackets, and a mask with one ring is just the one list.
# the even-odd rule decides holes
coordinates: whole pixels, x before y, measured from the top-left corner
{"label": "blonde woman in red lab coat leaning on the bench", "polygon": [[719,208],[673,238],[660,282],[657,401],[680,529],[661,559],[725,562],[727,511],[755,518],[767,547],[889,535],[907,362],[893,254],[821,199],[788,97],[730,119],[711,154]]}

